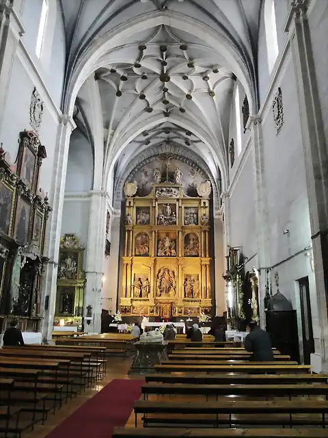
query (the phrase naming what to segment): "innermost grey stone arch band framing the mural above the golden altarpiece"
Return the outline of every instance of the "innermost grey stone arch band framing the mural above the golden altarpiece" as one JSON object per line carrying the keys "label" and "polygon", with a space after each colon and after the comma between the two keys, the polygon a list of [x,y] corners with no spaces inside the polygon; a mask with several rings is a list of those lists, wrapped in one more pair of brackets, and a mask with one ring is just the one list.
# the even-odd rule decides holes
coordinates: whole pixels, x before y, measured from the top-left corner
{"label": "innermost grey stone arch band framing the mural above the golden altarpiece", "polygon": [[[176,146],[179,149],[179,153],[174,152]],[[131,160],[131,162],[125,168],[124,173],[122,175],[119,175],[118,178],[115,179],[113,207],[115,209],[120,209],[125,181],[131,181],[137,170],[139,170],[142,166],[145,166],[146,164],[152,162],[156,157],[159,157],[159,155],[163,155],[166,153],[169,153],[170,155],[173,155],[176,159],[180,159],[180,161],[190,165],[195,165],[195,163],[197,163],[197,169],[202,177],[204,177],[204,179],[210,180],[213,190],[214,208],[215,210],[218,210],[220,208],[221,190],[219,188],[218,181],[216,181],[212,177],[207,164],[204,162],[203,159],[200,158],[199,155],[197,155],[197,153],[191,151],[191,149],[188,149],[187,147],[180,144],[175,145],[173,143],[153,146],[152,148],[146,149],[145,151],[143,151],[143,153]]]}

